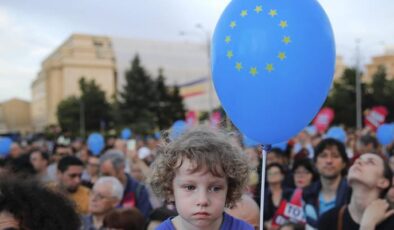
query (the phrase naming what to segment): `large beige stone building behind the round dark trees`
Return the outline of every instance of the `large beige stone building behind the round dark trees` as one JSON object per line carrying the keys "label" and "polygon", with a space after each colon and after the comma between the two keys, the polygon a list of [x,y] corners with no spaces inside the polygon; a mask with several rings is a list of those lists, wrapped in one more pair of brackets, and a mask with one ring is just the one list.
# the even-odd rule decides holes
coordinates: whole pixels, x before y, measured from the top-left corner
{"label": "large beige stone building behind the round dark trees", "polygon": [[35,131],[57,124],[58,104],[67,97],[80,95],[81,78],[94,80],[108,99],[115,94],[116,67],[110,38],[72,35],[44,60],[31,86]]}

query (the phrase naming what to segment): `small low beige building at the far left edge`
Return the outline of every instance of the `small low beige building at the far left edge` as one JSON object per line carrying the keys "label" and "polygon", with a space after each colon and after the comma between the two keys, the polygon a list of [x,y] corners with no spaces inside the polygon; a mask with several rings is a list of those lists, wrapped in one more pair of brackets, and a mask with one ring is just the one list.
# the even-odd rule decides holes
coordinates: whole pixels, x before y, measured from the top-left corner
{"label": "small low beige building at the far left edge", "polygon": [[0,103],[0,133],[28,133],[32,129],[30,102],[13,98]]}

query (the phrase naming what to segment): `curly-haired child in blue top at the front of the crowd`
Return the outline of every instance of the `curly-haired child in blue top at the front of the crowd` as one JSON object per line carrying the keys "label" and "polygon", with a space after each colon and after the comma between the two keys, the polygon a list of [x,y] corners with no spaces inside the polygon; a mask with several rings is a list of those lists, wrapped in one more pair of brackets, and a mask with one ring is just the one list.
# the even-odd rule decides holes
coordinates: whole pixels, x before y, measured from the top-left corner
{"label": "curly-haired child in blue top at the front of the crowd", "polygon": [[241,198],[249,175],[246,157],[230,143],[225,134],[199,127],[161,147],[150,182],[178,216],[158,230],[253,229],[224,212]]}

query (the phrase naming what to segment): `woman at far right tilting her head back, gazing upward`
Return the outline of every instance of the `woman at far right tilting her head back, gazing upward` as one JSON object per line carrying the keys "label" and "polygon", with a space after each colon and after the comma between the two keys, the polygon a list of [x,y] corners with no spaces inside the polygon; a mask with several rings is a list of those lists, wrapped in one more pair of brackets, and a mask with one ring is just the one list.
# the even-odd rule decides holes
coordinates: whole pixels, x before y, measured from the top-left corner
{"label": "woman at far right tilting her head back, gazing upward", "polygon": [[394,229],[394,210],[383,199],[391,187],[392,178],[386,157],[362,154],[350,167],[347,176],[352,188],[350,203],[323,214],[318,229]]}

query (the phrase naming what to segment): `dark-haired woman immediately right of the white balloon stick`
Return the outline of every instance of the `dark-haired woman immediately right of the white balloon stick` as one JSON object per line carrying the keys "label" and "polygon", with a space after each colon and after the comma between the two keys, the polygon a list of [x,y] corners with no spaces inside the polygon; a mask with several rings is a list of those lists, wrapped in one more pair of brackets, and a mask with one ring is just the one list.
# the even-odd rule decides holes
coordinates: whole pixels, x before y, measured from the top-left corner
{"label": "dark-haired woman immediately right of the white balloon stick", "polygon": [[264,195],[264,225],[269,228],[280,203],[282,200],[289,201],[293,190],[283,187],[285,171],[282,165],[272,163],[267,166],[266,172],[268,188]]}

